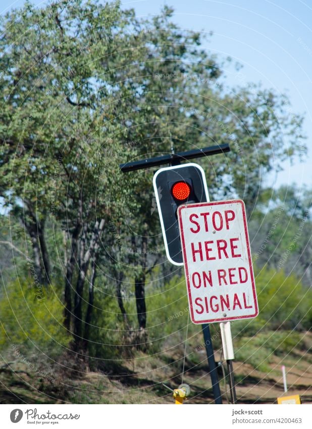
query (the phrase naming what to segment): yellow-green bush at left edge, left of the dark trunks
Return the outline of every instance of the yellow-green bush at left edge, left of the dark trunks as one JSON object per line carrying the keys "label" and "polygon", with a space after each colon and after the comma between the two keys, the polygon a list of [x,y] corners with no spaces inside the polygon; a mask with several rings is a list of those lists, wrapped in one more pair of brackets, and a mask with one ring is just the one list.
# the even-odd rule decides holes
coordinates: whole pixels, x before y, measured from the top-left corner
{"label": "yellow-green bush at left edge, left of the dark trunks", "polygon": [[11,282],[0,301],[0,346],[36,348],[56,356],[71,340],[63,313],[53,290],[38,289],[31,278]]}

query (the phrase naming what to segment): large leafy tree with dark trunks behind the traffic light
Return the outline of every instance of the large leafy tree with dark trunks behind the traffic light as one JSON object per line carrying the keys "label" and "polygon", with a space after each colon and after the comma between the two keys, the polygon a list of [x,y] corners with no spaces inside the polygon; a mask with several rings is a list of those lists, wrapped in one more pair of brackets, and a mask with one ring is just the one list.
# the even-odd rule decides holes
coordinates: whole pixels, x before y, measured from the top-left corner
{"label": "large leafy tree with dark trunks behind the traffic light", "polygon": [[124,222],[126,248],[141,248],[134,283],[139,327],[146,323],[146,274],[158,258],[144,250],[162,242],[151,214],[152,170],[125,176],[120,163],[232,140],[227,163],[216,156],[203,166],[213,194],[239,195],[251,211],[273,151],[279,162],[285,157],[281,127],[290,156],[302,153],[301,119],[285,116],[285,98],[217,83],[217,59],[172,13],[164,7],[144,20],[120,2],[59,0],[1,18],[0,195],[23,222],[45,287],[47,222],[63,231],[65,324],[77,350],[88,342],[101,236],[111,221]]}

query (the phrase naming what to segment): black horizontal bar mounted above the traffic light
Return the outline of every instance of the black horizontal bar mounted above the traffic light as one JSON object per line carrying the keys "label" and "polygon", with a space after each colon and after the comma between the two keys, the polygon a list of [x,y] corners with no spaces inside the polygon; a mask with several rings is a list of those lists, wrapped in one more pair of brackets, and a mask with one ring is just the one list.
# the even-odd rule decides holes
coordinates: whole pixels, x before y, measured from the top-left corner
{"label": "black horizontal bar mounted above the traffic light", "polygon": [[222,154],[230,152],[230,146],[228,143],[222,145],[210,146],[203,149],[193,149],[187,152],[179,152],[177,154],[164,155],[156,158],[146,158],[140,161],[127,162],[126,164],[120,164],[121,171],[127,173],[128,171],[140,170],[142,168],[155,167],[157,165],[171,164],[176,161],[185,161],[187,159],[201,158],[204,156]]}

